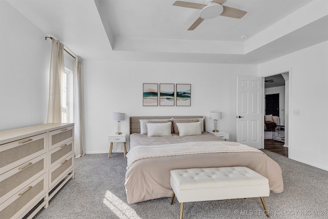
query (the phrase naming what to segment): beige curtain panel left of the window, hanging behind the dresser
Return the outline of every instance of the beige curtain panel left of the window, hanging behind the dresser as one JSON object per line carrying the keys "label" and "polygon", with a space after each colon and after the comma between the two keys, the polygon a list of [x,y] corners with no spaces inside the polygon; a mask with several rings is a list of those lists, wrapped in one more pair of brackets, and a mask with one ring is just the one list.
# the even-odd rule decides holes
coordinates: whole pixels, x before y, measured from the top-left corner
{"label": "beige curtain panel left of the window, hanging behind the dresser", "polygon": [[47,123],[61,123],[61,78],[64,74],[64,45],[57,39],[52,39],[49,103]]}

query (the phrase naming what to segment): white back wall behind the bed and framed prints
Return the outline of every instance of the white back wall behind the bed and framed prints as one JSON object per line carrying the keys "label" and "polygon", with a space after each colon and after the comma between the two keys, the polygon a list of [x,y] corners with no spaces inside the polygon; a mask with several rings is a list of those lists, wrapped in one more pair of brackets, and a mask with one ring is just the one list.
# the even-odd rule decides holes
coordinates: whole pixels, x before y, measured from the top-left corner
{"label": "white back wall behind the bed and framed prints", "polygon": [[[129,133],[129,116],[209,116],[219,110],[218,129],[236,141],[236,76],[257,75],[256,65],[86,61],[83,67],[86,153],[108,153],[108,135],[116,132],[112,112],[118,111],[126,113],[121,131]],[[191,84],[191,106],[142,106],[142,83]],[[207,125],[212,130],[213,120]],[[113,151],[120,149],[118,144]]]}

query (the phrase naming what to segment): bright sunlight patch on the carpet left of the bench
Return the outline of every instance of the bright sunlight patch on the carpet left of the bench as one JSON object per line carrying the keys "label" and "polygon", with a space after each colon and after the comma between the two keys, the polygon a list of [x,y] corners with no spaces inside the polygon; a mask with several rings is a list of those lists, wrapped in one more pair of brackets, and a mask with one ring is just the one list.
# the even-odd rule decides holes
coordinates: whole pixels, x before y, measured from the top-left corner
{"label": "bright sunlight patch on the carpet left of the bench", "polygon": [[106,191],[103,203],[111,209],[111,211],[116,214],[119,218],[135,218],[141,219],[129,205],[120,200],[116,195],[110,191]]}

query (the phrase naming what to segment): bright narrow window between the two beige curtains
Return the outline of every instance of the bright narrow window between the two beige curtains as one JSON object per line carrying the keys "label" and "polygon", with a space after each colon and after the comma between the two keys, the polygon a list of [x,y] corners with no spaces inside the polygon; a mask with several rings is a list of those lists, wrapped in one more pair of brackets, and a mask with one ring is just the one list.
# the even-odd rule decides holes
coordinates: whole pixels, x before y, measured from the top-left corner
{"label": "bright narrow window between the two beige curtains", "polygon": [[61,89],[61,122],[73,123],[73,71],[66,67]]}

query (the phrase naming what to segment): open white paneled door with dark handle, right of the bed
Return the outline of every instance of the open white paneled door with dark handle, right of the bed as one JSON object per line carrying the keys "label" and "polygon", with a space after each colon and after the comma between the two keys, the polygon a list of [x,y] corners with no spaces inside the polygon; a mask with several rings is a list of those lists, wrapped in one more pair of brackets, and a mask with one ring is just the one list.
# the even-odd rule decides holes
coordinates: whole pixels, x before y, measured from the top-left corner
{"label": "open white paneled door with dark handle, right of the bed", "polygon": [[263,129],[261,97],[261,77],[237,77],[237,142],[258,149]]}

